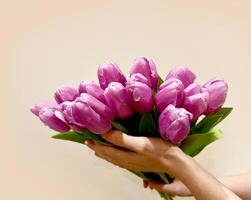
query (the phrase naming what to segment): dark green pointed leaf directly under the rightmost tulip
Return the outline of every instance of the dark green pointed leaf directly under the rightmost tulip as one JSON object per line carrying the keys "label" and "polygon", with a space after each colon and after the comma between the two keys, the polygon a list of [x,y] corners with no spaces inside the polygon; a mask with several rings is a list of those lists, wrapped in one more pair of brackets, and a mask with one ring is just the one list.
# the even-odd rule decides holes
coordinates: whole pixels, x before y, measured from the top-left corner
{"label": "dark green pointed leaf directly under the rightmost tulip", "polygon": [[221,108],[218,112],[204,117],[198,124],[192,129],[190,134],[207,133],[222,120],[224,120],[231,112],[233,108]]}

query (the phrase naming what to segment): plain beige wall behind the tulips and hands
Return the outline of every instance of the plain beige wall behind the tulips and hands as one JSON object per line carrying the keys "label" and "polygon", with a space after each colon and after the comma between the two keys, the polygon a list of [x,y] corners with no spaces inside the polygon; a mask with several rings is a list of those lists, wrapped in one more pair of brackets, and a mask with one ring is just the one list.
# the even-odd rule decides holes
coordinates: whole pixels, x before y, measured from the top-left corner
{"label": "plain beige wall behind the tulips and hands", "polygon": [[29,112],[62,84],[96,80],[105,60],[128,72],[138,55],[162,76],[186,65],[201,82],[226,79],[225,138],[197,159],[217,176],[250,170],[250,10],[250,0],[0,0],[0,199],[158,199],[84,146],[51,139]]}

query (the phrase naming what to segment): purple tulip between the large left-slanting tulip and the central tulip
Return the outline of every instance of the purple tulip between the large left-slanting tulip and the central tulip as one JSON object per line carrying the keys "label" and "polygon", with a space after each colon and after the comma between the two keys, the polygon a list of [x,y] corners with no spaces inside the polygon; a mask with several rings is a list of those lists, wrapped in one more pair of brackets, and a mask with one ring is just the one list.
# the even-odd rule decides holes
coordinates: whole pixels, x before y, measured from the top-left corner
{"label": "purple tulip between the large left-slanting tulip and the central tulip", "polygon": [[105,99],[115,118],[126,119],[133,115],[126,88],[118,82],[111,82],[105,89]]}

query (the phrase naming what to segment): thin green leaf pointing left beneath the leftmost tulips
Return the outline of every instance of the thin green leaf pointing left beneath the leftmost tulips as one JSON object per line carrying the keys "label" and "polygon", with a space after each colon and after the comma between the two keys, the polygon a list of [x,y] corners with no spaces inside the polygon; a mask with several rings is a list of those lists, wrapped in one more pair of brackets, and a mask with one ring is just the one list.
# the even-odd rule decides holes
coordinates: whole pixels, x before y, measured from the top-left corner
{"label": "thin green leaf pointing left beneath the leftmost tulips", "polygon": [[68,141],[77,142],[81,144],[84,144],[86,140],[93,140],[93,141],[97,141],[102,144],[111,146],[111,144],[108,143],[106,140],[104,140],[100,135],[94,134],[88,130],[85,130],[81,133],[78,133],[75,131],[59,133],[57,135],[52,136],[52,138],[59,139],[59,140],[68,140]]}

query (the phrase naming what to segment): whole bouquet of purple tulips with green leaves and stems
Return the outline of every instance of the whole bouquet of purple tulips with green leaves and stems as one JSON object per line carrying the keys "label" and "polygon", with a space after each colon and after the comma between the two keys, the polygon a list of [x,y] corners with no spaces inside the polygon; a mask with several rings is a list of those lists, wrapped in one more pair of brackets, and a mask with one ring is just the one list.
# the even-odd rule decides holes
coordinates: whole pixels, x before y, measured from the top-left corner
{"label": "whole bouquet of purple tulips with green leaves and stems", "polygon": [[[145,57],[135,59],[128,80],[113,62],[101,64],[97,74],[99,84],[63,86],[55,92],[55,101],[31,108],[59,132],[53,138],[111,145],[100,134],[117,129],[133,136],[161,137],[195,156],[222,137],[215,126],[232,111],[222,108],[228,90],[223,79],[200,85],[189,68],[177,67],[163,81],[153,60]],[[165,173],[131,172],[144,180],[173,181]],[[166,200],[173,198],[159,193]]]}

